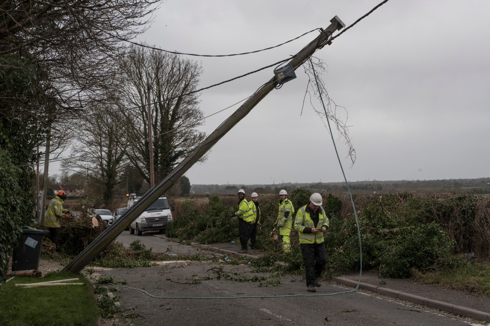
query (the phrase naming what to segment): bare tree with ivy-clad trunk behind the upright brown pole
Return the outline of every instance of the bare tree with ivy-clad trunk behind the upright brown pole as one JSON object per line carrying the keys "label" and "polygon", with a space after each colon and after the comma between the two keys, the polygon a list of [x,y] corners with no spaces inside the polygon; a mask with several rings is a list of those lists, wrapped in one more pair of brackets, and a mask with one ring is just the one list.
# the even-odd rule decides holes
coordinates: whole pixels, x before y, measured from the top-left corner
{"label": "bare tree with ivy-clad trunk behind the upright brown pole", "polygon": [[201,67],[177,55],[130,46],[120,70],[128,159],[150,182],[146,114],[150,92],[155,180],[161,180],[205,138],[196,129],[203,118],[199,95],[188,94],[197,89]]}

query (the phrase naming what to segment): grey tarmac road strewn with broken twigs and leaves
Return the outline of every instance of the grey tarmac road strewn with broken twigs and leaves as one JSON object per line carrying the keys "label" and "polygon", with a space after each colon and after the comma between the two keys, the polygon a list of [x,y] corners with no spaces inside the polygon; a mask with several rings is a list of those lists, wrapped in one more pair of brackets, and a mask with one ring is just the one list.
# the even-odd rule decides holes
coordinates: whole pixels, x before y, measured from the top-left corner
{"label": "grey tarmac road strewn with broken twigs and leaves", "polygon": [[[137,237],[127,231],[117,238],[125,245],[136,239],[154,252],[166,252],[169,255],[207,252],[170,242],[162,237]],[[225,245],[228,249],[225,249],[223,255],[227,254],[226,250],[230,247],[229,244]],[[222,276],[232,276],[233,280],[224,277],[217,279],[217,271]],[[252,273],[246,264],[236,266],[175,261],[153,267],[97,270],[95,276],[114,277],[118,281],[126,281],[125,286],[134,288],[119,288],[116,293],[120,296],[121,306],[126,309],[125,314],[133,317],[130,322],[134,325],[485,324],[485,321],[457,316],[370,291],[335,294],[352,290],[352,287],[335,282],[325,283],[317,288],[317,296],[311,296],[306,291],[304,280],[299,276],[282,277],[282,284],[273,287],[260,286],[261,282],[240,282],[240,278],[261,276],[271,280],[269,275]],[[266,282],[262,281],[262,285]],[[136,289],[161,298],[151,297]],[[290,297],[279,297],[283,295]]]}

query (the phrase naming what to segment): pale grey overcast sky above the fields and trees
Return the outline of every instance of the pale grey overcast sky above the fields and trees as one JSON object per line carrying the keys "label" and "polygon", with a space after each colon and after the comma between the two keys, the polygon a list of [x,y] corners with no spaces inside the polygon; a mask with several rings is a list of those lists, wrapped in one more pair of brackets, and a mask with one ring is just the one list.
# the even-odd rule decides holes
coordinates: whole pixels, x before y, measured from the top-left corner
{"label": "pale grey overcast sky above the fields and trees", "polygon": [[[380,2],[167,0],[136,41],[203,55],[246,52],[326,28],[335,15],[349,26]],[[328,66],[322,79],[330,98],[348,113],[354,165],[334,132],[347,180],[490,175],[488,13],[485,0],[390,0],[315,53]],[[186,58],[202,64],[200,87],[207,87],[286,59],[316,36],[247,56]],[[204,115],[247,98],[273,70],[203,91]],[[192,184],[344,180],[326,121],[308,101],[302,108],[307,76],[302,68],[296,74],[186,173]],[[210,134],[236,108],[206,119],[200,130]]]}

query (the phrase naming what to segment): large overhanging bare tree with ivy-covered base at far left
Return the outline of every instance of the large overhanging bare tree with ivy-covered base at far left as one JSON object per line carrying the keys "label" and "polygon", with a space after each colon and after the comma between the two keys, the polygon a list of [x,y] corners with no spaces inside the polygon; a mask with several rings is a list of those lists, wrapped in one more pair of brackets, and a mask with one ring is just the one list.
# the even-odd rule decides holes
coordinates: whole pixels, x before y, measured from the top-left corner
{"label": "large overhanging bare tree with ivy-covered base at far left", "polygon": [[[121,39],[144,30],[157,2],[0,2],[0,151],[2,162],[17,167],[0,169],[12,174],[5,188],[25,192],[35,149],[49,139],[48,130],[63,131],[58,126],[63,120],[69,126],[68,119],[111,93]],[[33,208],[30,198],[11,197],[0,214],[0,238],[8,239],[0,246],[0,279],[19,227],[30,222]]]}

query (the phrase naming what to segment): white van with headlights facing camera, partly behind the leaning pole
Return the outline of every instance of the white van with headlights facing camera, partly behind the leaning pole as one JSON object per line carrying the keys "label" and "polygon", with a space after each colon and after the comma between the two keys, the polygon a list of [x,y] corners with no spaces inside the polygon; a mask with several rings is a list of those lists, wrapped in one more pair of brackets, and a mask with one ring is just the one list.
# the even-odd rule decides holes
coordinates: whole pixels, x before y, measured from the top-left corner
{"label": "white van with headlights facing camera, partly behind the leaning pole", "polygon": [[[130,209],[137,201],[138,198],[130,198],[128,208]],[[160,197],[131,223],[129,233],[134,234],[135,230],[137,235],[150,230],[165,232],[166,226],[174,222],[172,211],[174,211],[174,207],[170,208],[168,200],[165,197]]]}

